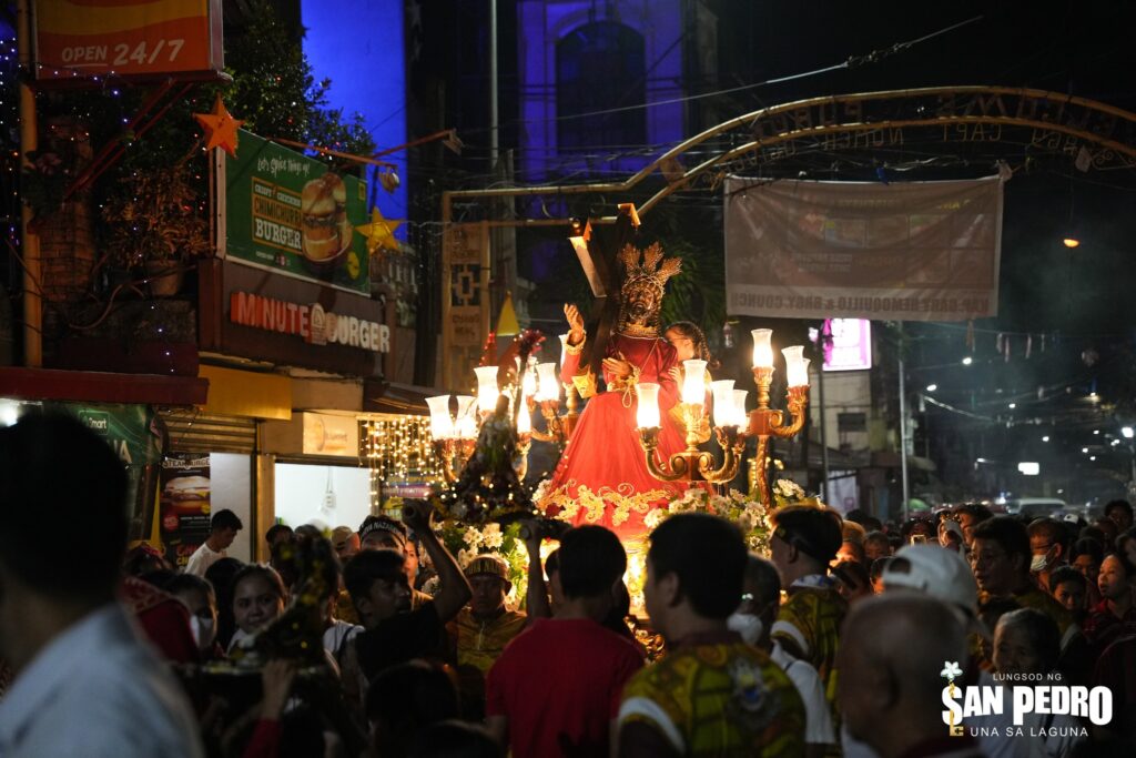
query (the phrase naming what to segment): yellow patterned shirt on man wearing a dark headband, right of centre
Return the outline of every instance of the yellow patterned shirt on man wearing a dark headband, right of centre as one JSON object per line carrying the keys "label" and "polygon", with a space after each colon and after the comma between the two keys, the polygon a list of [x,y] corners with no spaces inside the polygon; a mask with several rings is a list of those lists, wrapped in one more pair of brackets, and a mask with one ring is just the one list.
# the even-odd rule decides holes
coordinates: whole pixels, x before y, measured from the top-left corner
{"label": "yellow patterned shirt on man wearing a dark headband, right of centre", "polygon": [[[836,649],[847,602],[827,577],[797,580],[788,600],[777,611],[770,636],[794,658],[812,664],[825,686],[825,698],[836,713]],[[838,725],[838,723],[837,723]]]}

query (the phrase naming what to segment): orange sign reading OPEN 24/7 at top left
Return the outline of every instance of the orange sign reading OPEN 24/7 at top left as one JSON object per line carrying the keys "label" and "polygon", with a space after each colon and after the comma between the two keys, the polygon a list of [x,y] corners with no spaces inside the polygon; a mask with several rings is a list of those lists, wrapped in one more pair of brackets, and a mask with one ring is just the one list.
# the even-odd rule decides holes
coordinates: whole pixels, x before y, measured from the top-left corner
{"label": "orange sign reading OPEN 24/7 at top left", "polygon": [[39,80],[220,70],[220,0],[39,0]]}

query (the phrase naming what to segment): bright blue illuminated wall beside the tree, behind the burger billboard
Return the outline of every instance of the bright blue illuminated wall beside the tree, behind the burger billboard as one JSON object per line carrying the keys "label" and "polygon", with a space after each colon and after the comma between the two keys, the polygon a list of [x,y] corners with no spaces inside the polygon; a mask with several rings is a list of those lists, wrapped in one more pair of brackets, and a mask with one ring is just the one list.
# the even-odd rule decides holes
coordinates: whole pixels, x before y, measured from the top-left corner
{"label": "bright blue illuminated wall beside the tree, behind the burger billboard", "polygon": [[[329,105],[364,115],[378,150],[407,142],[402,0],[302,0],[303,50],[316,81],[332,80]],[[406,151],[384,156],[402,180],[393,193],[371,190],[386,218],[407,217]],[[377,186],[375,172],[370,186]],[[395,236],[404,240],[406,227]]]}

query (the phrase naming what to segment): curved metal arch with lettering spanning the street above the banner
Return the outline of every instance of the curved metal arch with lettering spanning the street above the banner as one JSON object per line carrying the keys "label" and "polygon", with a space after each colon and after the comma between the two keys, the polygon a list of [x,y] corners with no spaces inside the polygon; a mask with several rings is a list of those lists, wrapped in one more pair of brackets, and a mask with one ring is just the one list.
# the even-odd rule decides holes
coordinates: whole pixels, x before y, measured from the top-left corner
{"label": "curved metal arch with lettering spanning the street above the banner", "polygon": [[[741,116],[736,116],[729,120],[722,122],[716,126],[712,126],[704,132],[696,134],[683,142],[678,143],[670,150],[667,150],[653,161],[644,166],[642,169],[629,176],[621,182],[601,182],[593,184],[566,184],[566,185],[536,185],[536,186],[518,186],[518,188],[499,188],[493,190],[460,190],[443,193],[443,222],[449,220],[450,203],[454,199],[468,199],[468,198],[510,198],[510,197],[532,197],[541,194],[580,194],[590,192],[611,192],[621,193],[627,192],[646,180],[651,174],[655,173],[667,164],[668,161],[674,161],[678,156],[690,151],[691,149],[705,143],[713,138],[720,136],[728,132],[737,128],[747,127],[750,130],[758,127],[762,124],[768,124],[778,116],[790,115],[794,113],[807,113],[810,108],[817,107],[832,107],[832,113],[835,115],[837,106],[843,106],[847,103],[866,103],[866,102],[885,102],[895,101],[902,99],[930,99],[930,98],[967,98],[960,105],[964,105],[968,109],[972,106],[977,106],[982,110],[986,110],[988,107],[996,106],[1001,111],[1001,115],[988,115],[986,113],[978,115],[930,115],[927,117],[917,118],[899,118],[899,119],[883,119],[883,120],[858,120],[851,123],[840,123],[840,119],[834,119],[828,123],[824,123],[817,126],[807,126],[801,128],[788,128],[785,131],[777,132],[767,138],[759,140],[750,140],[745,144],[738,145],[736,148],[726,150],[725,152],[709,158],[698,166],[684,172],[682,176],[667,183],[667,186],[662,188],[652,195],[645,203],[638,208],[638,213],[645,214],[658,202],[665,199],[673,192],[688,186],[695,178],[705,174],[707,172],[713,169],[716,166],[721,166],[735,160],[741,156],[760,150],[762,148],[791,142],[793,140],[804,139],[809,136],[819,136],[830,133],[841,132],[869,132],[874,130],[886,130],[886,128],[903,128],[903,127],[926,127],[926,126],[950,126],[950,125],[962,125],[962,124],[988,124],[988,125],[1009,125],[1019,126],[1025,128],[1034,130],[1045,130],[1047,132],[1056,132],[1070,138],[1076,138],[1083,140],[1087,143],[1097,144],[1106,150],[1112,151],[1116,155],[1125,156],[1136,165],[1136,114],[1110,106],[1108,103],[1099,102],[1096,100],[1089,100],[1087,98],[1079,98],[1068,94],[1061,94],[1058,92],[1049,92],[1046,90],[1034,90],[1027,88],[1005,88],[1005,86],[938,86],[938,88],[920,88],[920,89],[909,89],[909,90],[888,90],[882,92],[862,92],[855,94],[841,94],[841,95],[825,95],[819,98],[809,98],[804,100],[795,100],[793,102],[786,102],[778,106],[770,106],[768,108],[761,108],[759,110],[753,110]],[[1002,101],[1004,97],[1013,97],[1019,99],[1019,111],[1021,110],[1022,102],[1031,102],[1035,105],[1031,110],[1031,115],[1036,115],[1038,108],[1037,105],[1044,106],[1045,108],[1052,109],[1044,113],[1045,118],[1036,117],[1025,117],[1009,115],[1005,111],[1005,103]],[[953,101],[947,101],[952,102]],[[1083,128],[1084,122],[1087,119],[1081,119],[1081,123],[1068,123],[1062,122],[1067,113],[1072,108],[1084,109],[1088,111],[1089,115],[1095,115],[1097,118],[1102,119],[1105,124],[1111,124],[1111,131],[1108,135],[1093,132],[1087,128]],[[862,111],[861,111],[862,113]],[[1053,116],[1052,120],[1047,117]],[[1112,139],[1112,133],[1118,131],[1118,125],[1127,125],[1127,135],[1130,138],[1129,141],[1120,141]],[[673,164],[671,164],[673,165]],[[595,220],[611,220],[611,219],[595,219]],[[509,224],[504,222],[503,224]],[[527,225],[526,220],[515,222],[516,225]]]}

